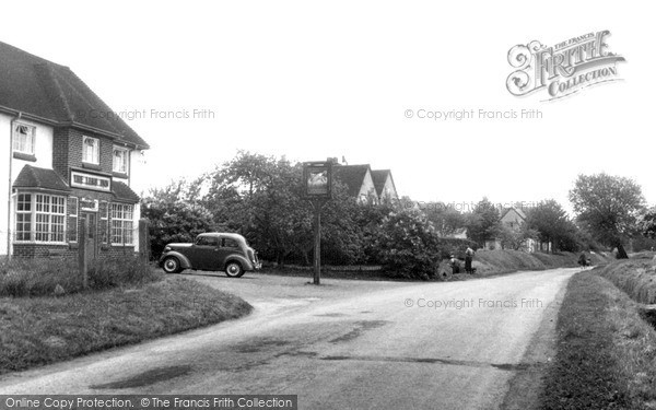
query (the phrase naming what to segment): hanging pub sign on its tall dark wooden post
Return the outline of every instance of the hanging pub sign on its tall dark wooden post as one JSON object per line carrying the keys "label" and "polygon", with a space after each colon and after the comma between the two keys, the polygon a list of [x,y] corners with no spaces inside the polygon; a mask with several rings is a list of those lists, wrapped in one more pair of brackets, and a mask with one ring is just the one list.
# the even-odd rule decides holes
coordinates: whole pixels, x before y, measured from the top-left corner
{"label": "hanging pub sign on its tall dark wooden post", "polygon": [[314,284],[321,278],[321,208],[332,197],[332,162],[306,162],[303,164],[304,197],[314,208]]}

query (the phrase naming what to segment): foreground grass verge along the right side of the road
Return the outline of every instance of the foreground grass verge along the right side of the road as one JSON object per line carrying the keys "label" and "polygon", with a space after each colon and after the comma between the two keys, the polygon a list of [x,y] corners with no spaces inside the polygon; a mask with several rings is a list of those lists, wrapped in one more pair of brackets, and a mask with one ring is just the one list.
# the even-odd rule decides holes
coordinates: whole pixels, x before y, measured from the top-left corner
{"label": "foreground grass verge along the right side of the road", "polygon": [[567,285],[543,409],[656,408],[656,332],[635,302],[596,271]]}

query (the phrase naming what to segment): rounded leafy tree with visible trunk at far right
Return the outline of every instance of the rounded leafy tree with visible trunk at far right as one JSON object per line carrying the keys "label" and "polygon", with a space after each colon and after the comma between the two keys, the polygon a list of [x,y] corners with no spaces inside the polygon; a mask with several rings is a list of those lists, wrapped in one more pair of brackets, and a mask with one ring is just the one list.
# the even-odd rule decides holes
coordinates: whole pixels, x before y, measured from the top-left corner
{"label": "rounded leafy tree with visible trunk at far right", "polygon": [[576,218],[600,243],[617,247],[618,258],[629,256],[623,242],[636,230],[644,209],[641,187],[632,179],[607,174],[579,175],[570,190]]}

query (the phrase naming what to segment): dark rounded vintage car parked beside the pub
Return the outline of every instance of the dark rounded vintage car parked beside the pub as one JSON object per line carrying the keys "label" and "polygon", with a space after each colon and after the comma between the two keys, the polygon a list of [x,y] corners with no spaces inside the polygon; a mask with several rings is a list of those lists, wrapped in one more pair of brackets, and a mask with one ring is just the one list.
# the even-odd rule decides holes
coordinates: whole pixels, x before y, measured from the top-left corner
{"label": "dark rounded vintage car parked beside the pub", "polygon": [[261,268],[257,253],[244,236],[219,232],[200,234],[192,244],[166,245],[160,266],[166,273],[185,269],[223,270],[231,278]]}

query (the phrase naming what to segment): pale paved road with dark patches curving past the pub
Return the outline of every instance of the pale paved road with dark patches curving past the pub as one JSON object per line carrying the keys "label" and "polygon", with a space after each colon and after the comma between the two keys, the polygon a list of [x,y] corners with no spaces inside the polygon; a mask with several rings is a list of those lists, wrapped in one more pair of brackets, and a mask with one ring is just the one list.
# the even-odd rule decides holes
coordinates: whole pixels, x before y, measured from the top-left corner
{"label": "pale paved road with dark patches curving past the pub", "polygon": [[0,394],[294,394],[302,409],[494,409],[515,375],[547,360],[527,348],[550,337],[544,324],[574,272],[320,289],[302,278],[194,276],[256,312],[5,375]]}

